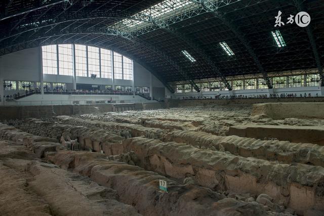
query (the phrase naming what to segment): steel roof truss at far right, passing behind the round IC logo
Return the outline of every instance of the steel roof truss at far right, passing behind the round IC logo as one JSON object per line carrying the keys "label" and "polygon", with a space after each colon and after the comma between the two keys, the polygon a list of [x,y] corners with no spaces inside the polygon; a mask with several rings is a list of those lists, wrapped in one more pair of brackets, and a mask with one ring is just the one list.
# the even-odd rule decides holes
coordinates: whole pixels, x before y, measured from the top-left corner
{"label": "steel roof truss at far right, passing behind the round IC logo", "polygon": [[[293,0],[293,1],[294,1],[294,4],[295,4],[298,11],[300,11],[300,12],[305,11],[305,6],[303,4],[303,1],[301,1],[301,0]],[[310,42],[310,45],[312,47],[312,51],[313,51],[313,54],[314,54],[316,67],[318,69],[318,73],[319,73],[319,77],[320,77],[320,86],[324,87],[323,68],[322,68],[322,65],[320,63],[320,56],[319,56],[319,53],[318,53],[318,50],[317,50],[317,47],[316,47],[316,41],[315,41],[313,28],[312,28],[312,26],[310,24],[306,27],[306,31],[307,31],[309,42]]]}

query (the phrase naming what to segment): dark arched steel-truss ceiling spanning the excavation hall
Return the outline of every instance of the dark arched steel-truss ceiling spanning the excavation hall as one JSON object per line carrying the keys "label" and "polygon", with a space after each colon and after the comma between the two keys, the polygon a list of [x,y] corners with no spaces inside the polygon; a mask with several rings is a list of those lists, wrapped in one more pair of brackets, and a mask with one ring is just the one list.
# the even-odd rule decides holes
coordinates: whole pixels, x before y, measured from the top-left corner
{"label": "dark arched steel-truss ceiling spanning the excavation hall", "polygon": [[[185,80],[195,88],[197,79],[219,78],[228,84],[228,76],[259,74],[267,81],[267,73],[300,69],[318,69],[323,80],[324,0],[184,0],[185,10],[175,9],[164,18],[141,14],[161,2],[2,0],[0,55],[49,44],[94,45],[133,58],[165,84]],[[275,27],[278,11],[285,25]],[[287,24],[290,15],[301,11],[311,17],[307,27]],[[121,28],[124,19],[145,25]],[[287,46],[276,45],[275,30]],[[223,41],[235,55],[224,52]],[[183,50],[196,61],[189,61]]]}

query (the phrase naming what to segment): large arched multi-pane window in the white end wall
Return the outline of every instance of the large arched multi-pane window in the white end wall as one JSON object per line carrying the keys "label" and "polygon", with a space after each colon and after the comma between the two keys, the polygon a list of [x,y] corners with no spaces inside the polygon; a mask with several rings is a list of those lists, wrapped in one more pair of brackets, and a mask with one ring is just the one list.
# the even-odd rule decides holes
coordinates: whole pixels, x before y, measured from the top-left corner
{"label": "large arched multi-pane window in the white end wall", "polygon": [[72,76],[75,71],[76,76],[95,74],[98,78],[133,80],[133,60],[111,50],[86,45],[48,45],[42,47],[42,56],[44,74]]}

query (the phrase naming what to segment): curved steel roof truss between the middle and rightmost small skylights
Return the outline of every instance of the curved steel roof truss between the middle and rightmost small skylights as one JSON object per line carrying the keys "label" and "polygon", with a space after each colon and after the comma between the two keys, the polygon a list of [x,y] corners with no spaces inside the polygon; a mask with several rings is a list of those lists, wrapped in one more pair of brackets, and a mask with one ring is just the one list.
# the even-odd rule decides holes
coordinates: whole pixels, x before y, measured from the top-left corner
{"label": "curved steel roof truss between the middle and rightmost small skylights", "polygon": [[215,7],[214,4],[207,2],[206,0],[191,0],[197,4],[201,4],[201,6],[208,12],[210,12],[211,14],[214,15],[214,17],[220,19],[223,24],[225,24],[235,35],[236,37],[239,39],[239,41],[246,47],[247,51],[249,52],[250,56],[253,58],[255,64],[257,65],[259,72],[262,74],[263,79],[266,81],[267,86],[269,89],[272,89],[272,84],[270,81],[270,78],[268,77],[268,74],[266,73],[266,71],[264,70],[263,66],[261,65],[261,62],[258,58],[258,56],[256,55],[254,49],[252,48],[252,46],[250,45],[250,42],[247,40],[247,38],[245,37],[244,33],[242,33],[239,28],[233,24],[232,22],[228,21],[224,15],[222,15],[219,11],[218,8]]}

